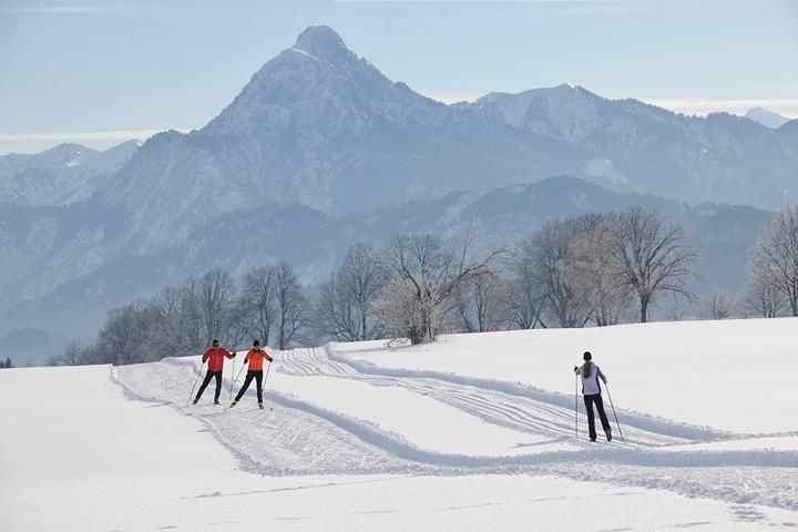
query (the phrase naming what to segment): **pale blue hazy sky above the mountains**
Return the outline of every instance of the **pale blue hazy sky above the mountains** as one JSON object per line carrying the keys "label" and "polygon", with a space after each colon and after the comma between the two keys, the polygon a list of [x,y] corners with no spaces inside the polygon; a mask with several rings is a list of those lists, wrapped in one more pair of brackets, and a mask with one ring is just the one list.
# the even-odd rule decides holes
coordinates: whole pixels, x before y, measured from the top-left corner
{"label": "pale blue hazy sky above the mountains", "polygon": [[798,117],[792,0],[0,0],[0,154],[202,127],[313,24],[444,102],[572,83]]}

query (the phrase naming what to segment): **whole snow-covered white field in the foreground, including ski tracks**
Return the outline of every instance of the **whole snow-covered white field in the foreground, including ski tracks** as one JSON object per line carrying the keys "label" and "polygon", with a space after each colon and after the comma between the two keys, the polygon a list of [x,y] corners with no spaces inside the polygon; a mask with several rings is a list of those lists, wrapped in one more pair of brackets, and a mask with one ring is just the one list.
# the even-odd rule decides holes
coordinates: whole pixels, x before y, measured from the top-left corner
{"label": "whole snow-covered white field in the foreground, including ski tracks", "polygon": [[[196,356],[2,370],[0,531],[798,530],[797,331],[685,321],[277,351],[266,410],[252,389],[214,407],[213,386],[186,406]],[[587,441],[581,398],[575,426],[584,350],[625,442],[606,392],[615,441]]]}

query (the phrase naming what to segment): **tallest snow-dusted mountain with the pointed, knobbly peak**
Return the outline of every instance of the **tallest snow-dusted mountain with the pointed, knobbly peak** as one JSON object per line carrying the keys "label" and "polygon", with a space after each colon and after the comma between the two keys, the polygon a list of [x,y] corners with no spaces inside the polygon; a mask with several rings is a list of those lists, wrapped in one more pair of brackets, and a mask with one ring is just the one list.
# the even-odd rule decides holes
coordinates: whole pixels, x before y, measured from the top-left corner
{"label": "tallest snow-dusted mountain with the pointed, knobbly peak", "polygon": [[574,151],[424,98],[313,27],[207,126],[149,140],[99,201],[162,243],[244,204],[340,213],[573,173]]}

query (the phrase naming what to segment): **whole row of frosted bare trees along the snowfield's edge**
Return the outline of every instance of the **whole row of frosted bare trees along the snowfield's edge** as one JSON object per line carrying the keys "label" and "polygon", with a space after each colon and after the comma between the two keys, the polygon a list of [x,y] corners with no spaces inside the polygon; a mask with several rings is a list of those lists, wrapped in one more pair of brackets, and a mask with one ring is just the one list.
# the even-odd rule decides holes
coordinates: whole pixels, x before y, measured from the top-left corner
{"label": "whole row of frosted bare trees along the snowfield's edge", "polygon": [[[335,339],[433,341],[442,332],[647,321],[652,306],[696,305],[705,317],[798,316],[798,207],[785,207],[753,252],[744,295],[697,298],[697,254],[678,224],[656,212],[585,214],[544,224],[500,245],[475,224],[448,241],[395,234],[356,244],[317,289],[290,265],[234,278],[213,268],[180,287],[109,313],[90,345],[72,344],[51,365],[135,364],[201,352],[213,338],[242,349]],[[664,309],[664,310],[663,310]]]}

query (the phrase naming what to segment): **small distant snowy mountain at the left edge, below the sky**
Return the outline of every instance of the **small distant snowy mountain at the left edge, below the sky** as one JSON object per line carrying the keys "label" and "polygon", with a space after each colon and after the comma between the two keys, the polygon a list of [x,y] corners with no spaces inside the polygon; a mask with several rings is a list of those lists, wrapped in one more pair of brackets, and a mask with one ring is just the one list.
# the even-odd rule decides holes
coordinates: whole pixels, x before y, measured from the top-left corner
{"label": "small distant snowy mountain at the left edge, below the sky", "polygon": [[127,141],[100,152],[60,144],[35,155],[2,155],[0,203],[52,206],[88,200],[140,146],[140,141]]}

